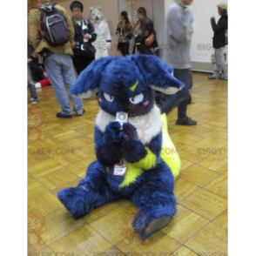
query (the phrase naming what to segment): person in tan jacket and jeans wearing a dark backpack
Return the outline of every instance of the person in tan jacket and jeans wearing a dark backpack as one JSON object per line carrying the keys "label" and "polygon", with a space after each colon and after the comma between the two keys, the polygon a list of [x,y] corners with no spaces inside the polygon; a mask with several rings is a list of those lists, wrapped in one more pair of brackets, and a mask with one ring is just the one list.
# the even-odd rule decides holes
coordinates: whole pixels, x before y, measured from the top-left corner
{"label": "person in tan jacket and jeans wearing a dark backpack", "polygon": [[[39,64],[44,64],[57,102],[62,109],[57,113],[57,118],[72,118],[69,96],[64,88],[65,83],[70,89],[77,79],[72,63],[71,45],[75,33],[71,18],[63,7],[49,0],[37,0],[37,3],[38,6],[30,10],[30,40],[39,56]],[[51,22],[51,26],[47,25],[47,20]],[[83,100],[71,95],[70,98],[73,111],[77,116],[82,116],[85,112]]]}

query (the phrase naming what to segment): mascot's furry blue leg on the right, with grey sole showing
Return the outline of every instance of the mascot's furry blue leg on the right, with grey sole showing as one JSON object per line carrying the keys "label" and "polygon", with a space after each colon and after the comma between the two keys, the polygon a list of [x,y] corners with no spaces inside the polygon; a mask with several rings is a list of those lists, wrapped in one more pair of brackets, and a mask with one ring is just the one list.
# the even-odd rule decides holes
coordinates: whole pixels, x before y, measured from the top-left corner
{"label": "mascot's furry blue leg on the right, with grey sole showing", "polygon": [[171,222],[177,211],[177,201],[172,172],[163,161],[143,175],[145,181],[132,197],[139,209],[132,226],[146,239]]}

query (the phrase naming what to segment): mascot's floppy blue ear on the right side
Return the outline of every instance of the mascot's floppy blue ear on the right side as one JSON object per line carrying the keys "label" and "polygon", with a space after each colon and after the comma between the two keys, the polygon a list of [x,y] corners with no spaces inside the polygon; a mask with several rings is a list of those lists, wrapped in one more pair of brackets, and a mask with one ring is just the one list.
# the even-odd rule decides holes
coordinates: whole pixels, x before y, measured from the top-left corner
{"label": "mascot's floppy blue ear on the right side", "polygon": [[185,87],[177,78],[173,77],[172,67],[158,57],[134,55],[132,58],[145,79],[145,84],[148,84],[153,90],[171,95]]}

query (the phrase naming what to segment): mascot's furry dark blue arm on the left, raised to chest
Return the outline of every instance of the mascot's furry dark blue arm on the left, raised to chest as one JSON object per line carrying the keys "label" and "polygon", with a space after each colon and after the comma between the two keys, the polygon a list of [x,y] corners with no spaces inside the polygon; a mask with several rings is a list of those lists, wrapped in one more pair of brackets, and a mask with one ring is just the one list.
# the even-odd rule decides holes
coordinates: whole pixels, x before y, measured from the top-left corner
{"label": "mascot's furry dark blue arm on the left, raised to chest", "polygon": [[122,141],[119,138],[121,125],[118,122],[111,123],[102,133],[95,126],[94,140],[98,162],[101,165],[110,167],[118,164],[122,158],[121,145]]}

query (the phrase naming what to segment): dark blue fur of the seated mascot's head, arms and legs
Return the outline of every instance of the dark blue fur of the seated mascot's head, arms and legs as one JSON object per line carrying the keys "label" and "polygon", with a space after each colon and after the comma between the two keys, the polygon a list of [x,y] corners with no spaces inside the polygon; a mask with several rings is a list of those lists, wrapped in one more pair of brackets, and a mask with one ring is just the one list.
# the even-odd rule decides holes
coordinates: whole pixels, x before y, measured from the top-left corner
{"label": "dark blue fur of the seated mascot's head, arms and legs", "polygon": [[[112,116],[116,116],[118,111],[139,116],[150,113],[155,106],[154,91],[150,85],[163,89],[183,86],[172,76],[172,67],[158,57],[104,57],[94,61],[80,74],[70,93],[81,95],[98,88],[98,103],[103,111]],[[142,100],[133,104],[132,99],[140,94],[143,95]],[[104,132],[96,125],[94,139],[97,161],[89,166],[86,177],[77,187],[57,192],[58,199],[71,212],[73,219],[84,217],[93,209],[117,199],[131,199],[138,206],[133,227],[142,237],[145,237],[145,230],[153,220],[173,218],[177,205],[174,177],[160,157],[162,131],[144,145],[133,125],[125,123],[121,130],[118,122],[111,122]],[[134,182],[120,186],[125,177],[114,175],[114,165],[122,158],[138,166],[141,160],[150,157],[149,150],[156,159],[153,166],[150,169],[141,167],[142,174]]]}

